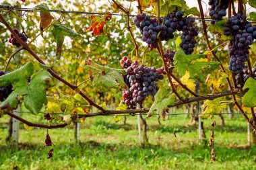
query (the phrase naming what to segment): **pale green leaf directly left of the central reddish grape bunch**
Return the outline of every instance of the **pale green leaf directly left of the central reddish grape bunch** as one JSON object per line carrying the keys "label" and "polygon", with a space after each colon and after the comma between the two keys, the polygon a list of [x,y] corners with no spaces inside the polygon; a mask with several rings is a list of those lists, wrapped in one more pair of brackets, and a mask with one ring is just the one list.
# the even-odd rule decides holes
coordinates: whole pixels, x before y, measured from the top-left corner
{"label": "pale green leaf directly left of the central reddish grape bunch", "polygon": [[90,65],[86,65],[86,69],[89,70],[90,79],[96,91],[111,88],[127,89],[123,80],[123,70],[97,65],[92,61]]}

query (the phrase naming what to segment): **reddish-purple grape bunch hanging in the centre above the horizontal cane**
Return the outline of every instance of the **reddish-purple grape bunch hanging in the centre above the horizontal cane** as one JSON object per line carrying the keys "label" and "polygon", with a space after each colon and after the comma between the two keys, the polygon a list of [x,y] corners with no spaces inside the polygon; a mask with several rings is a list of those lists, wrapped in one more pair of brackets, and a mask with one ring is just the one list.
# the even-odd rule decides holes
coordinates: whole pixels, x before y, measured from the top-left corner
{"label": "reddish-purple grape bunch hanging in the centre above the horizontal cane", "polygon": [[137,103],[142,105],[148,95],[156,94],[156,82],[164,79],[163,70],[139,65],[137,60],[134,60],[131,65],[124,65],[124,63],[131,63],[131,60],[127,56],[121,59],[121,66],[127,73],[124,77],[125,83],[129,87],[129,89],[123,91],[123,103],[128,106],[128,109],[135,109]]}

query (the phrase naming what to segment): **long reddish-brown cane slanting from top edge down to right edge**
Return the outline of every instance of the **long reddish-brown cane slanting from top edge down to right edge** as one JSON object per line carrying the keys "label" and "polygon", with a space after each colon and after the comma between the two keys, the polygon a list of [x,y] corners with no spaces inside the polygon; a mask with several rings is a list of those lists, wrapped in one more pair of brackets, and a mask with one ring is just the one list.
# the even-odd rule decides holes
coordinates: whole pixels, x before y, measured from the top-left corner
{"label": "long reddish-brown cane slanting from top edge down to right edge", "polygon": [[[240,0],[239,0],[240,1]],[[201,0],[197,0],[198,2],[198,5],[199,5],[199,9],[200,9],[200,14],[201,14],[201,19],[202,19],[202,24],[203,24],[203,34],[205,34],[205,41],[206,41],[206,44],[208,46],[208,48],[210,50],[212,50],[212,47],[210,46],[210,42],[209,42],[209,38],[208,38],[208,34],[207,34],[207,30],[206,30],[206,24],[205,24],[205,20],[204,20],[204,15],[203,15],[203,7],[201,5]],[[215,52],[212,51],[212,54],[214,56],[214,58],[220,62],[220,59],[218,58],[218,56],[216,56]],[[220,62],[220,69],[222,70],[222,72],[226,73],[222,63]],[[234,79],[233,80],[233,83],[234,83]],[[230,83],[230,80],[229,78],[227,77],[226,78],[226,81],[228,82],[228,87],[230,90],[232,90],[232,85]],[[241,108],[241,106],[238,104],[238,102],[236,101],[236,97],[234,95],[232,95],[232,99],[234,100],[234,103],[236,104],[237,108],[241,111],[241,113],[243,114],[244,118],[247,120],[247,122],[249,122],[250,126],[253,128],[253,130],[255,130],[255,126],[250,122],[248,116],[245,114],[244,110]]]}

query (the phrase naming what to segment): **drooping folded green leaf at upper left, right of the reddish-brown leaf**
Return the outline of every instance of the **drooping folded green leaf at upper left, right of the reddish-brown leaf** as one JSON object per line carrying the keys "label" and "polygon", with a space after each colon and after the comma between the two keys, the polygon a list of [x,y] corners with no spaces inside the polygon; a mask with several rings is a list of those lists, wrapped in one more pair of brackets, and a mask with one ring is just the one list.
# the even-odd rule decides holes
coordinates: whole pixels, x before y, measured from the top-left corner
{"label": "drooping folded green leaf at upper left, right of the reddish-brown leaf", "polygon": [[61,57],[62,45],[64,42],[64,37],[69,36],[73,40],[79,40],[82,38],[80,34],[74,32],[69,26],[61,25],[61,24],[53,24],[54,29],[52,30],[53,36],[57,43],[56,56],[59,59]]}

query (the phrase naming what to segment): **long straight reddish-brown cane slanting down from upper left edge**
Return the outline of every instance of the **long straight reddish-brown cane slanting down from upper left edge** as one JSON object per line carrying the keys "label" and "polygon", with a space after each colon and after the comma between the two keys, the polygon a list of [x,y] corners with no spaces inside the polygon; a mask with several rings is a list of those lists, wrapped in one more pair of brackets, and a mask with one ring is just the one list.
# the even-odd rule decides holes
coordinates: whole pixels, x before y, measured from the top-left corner
{"label": "long straight reddish-brown cane slanting down from upper left edge", "polygon": [[[15,32],[13,31],[13,29],[9,26],[9,24],[6,22],[5,18],[3,17],[3,15],[1,15],[0,13],[0,19],[3,22],[3,24],[5,24],[5,26],[7,27],[7,29],[11,32],[11,34],[13,34],[13,36],[16,38],[16,40],[18,40],[18,42],[23,46],[24,50],[27,50],[32,56],[34,56],[34,58],[36,58],[36,60],[38,60],[38,62],[40,62],[41,64],[45,65],[45,63],[42,61],[42,59],[36,54],[34,53],[34,51],[28,46],[28,44],[26,44],[25,42],[22,41],[22,39],[20,39],[20,37],[15,34]],[[98,110],[102,111],[102,112],[106,112],[106,110],[104,110],[100,105],[94,103],[94,101],[92,101],[92,99],[90,99],[89,97],[87,97],[82,91],[80,91],[75,85],[72,85],[71,83],[65,81],[65,79],[63,79],[62,77],[60,77],[57,73],[55,73],[52,69],[47,69],[47,71],[53,76],[55,77],[55,79],[58,79],[59,81],[61,81],[62,83],[64,83],[65,85],[67,85],[68,87],[70,87],[71,89],[73,89],[76,93],[79,93],[79,95],[82,95],[82,97],[84,97],[84,99],[86,99],[90,105],[93,105],[95,108],[98,108]]]}

